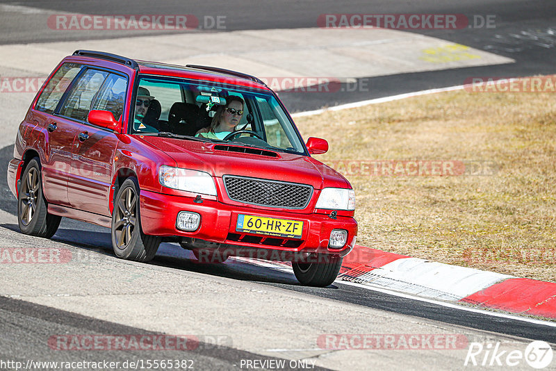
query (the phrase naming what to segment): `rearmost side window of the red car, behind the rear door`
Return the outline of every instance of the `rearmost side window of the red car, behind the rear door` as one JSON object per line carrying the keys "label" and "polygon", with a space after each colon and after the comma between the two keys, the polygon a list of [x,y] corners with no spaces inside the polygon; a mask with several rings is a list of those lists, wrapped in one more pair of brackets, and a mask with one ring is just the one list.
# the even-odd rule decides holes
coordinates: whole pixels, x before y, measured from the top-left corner
{"label": "rearmost side window of the red car, behind the rear door", "polygon": [[62,98],[67,87],[73,81],[77,73],[81,69],[81,65],[76,63],[64,63],[58,68],[56,74],[44,87],[37,101],[35,109],[46,113],[53,113],[58,106],[58,101]]}

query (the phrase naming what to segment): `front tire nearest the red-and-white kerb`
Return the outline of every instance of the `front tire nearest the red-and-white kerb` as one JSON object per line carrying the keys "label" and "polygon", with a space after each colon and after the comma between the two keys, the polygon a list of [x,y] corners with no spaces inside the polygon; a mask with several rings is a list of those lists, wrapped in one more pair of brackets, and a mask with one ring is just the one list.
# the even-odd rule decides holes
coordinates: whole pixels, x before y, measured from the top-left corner
{"label": "front tire nearest the red-and-white kerb", "polygon": [[304,286],[326,287],[332,284],[343,258],[332,254],[311,254],[306,261],[293,261],[293,273]]}

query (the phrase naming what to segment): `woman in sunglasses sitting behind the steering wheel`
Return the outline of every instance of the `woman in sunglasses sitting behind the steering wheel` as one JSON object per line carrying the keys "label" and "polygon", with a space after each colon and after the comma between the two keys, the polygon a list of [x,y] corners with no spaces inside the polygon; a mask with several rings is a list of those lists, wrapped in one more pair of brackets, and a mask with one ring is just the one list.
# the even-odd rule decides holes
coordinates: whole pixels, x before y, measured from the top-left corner
{"label": "woman in sunglasses sitting behind the steering wheel", "polygon": [[211,125],[197,131],[195,136],[222,140],[236,130],[243,115],[243,99],[236,95],[229,95],[226,101],[226,106],[218,106],[216,109]]}

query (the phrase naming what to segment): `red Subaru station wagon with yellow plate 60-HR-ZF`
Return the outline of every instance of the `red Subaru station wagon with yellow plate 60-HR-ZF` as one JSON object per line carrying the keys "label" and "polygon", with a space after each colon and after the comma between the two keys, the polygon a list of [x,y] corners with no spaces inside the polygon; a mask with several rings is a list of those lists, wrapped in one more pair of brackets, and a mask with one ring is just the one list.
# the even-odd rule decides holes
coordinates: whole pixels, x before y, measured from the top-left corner
{"label": "red Subaru station wagon with yellow plate 60-HR-ZF", "polygon": [[70,217],[111,228],[120,258],[178,242],[199,261],[291,261],[302,284],[328,286],[357,222],[350,183],[311,157],[327,149],[254,76],[78,50],[20,124],[8,184],[32,236]]}

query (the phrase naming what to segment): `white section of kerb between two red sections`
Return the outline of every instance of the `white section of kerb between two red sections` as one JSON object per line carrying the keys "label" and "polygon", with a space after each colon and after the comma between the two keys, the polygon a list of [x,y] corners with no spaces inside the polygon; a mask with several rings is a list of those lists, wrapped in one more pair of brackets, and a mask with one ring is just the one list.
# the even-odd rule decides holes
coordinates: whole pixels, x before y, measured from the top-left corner
{"label": "white section of kerb between two red sections", "polygon": [[516,277],[419,258],[400,258],[361,274],[352,281],[424,297],[458,301],[509,278]]}

